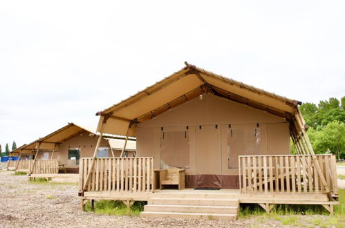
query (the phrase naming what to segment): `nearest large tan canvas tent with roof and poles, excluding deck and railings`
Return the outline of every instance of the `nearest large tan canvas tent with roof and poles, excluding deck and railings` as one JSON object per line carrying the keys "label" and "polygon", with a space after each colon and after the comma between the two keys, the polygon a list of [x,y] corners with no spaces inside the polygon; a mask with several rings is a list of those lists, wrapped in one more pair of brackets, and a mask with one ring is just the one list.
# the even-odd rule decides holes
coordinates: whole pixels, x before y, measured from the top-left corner
{"label": "nearest large tan canvas tent with roof and poles, excluding deck and railings", "polygon": [[185,64],[98,112],[97,131],[136,137],[138,157],[154,157],[155,169],[187,169],[189,187],[238,187],[238,155],[288,154],[290,137],[316,159],[301,102]]}

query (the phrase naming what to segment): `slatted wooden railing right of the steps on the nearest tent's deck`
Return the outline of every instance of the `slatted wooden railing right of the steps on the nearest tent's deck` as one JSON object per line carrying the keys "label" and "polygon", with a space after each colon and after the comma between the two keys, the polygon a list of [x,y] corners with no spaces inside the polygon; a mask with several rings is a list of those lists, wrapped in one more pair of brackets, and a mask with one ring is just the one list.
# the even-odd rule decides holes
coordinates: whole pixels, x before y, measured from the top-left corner
{"label": "slatted wooden railing right of the steps on the nearest tent's deck", "polygon": [[[337,195],[335,155],[316,155],[332,194]],[[239,156],[241,193],[325,193],[311,155]]]}

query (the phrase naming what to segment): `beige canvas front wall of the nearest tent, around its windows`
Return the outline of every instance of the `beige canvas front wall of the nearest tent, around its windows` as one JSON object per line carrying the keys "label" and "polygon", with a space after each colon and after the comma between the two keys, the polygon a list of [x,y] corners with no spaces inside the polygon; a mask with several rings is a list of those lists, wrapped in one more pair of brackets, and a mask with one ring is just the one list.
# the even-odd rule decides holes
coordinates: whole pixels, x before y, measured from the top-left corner
{"label": "beige canvas front wall of the nearest tent, around its windows", "polygon": [[[288,123],[281,117],[228,101],[214,95],[193,99],[152,120],[139,124],[137,156],[153,156],[155,169],[160,169],[160,137],[162,131],[189,133],[189,169],[192,174],[236,175],[229,169],[227,138],[232,129],[254,129],[259,123],[259,153],[288,154],[290,151]],[[242,155],[241,151],[233,151]]]}

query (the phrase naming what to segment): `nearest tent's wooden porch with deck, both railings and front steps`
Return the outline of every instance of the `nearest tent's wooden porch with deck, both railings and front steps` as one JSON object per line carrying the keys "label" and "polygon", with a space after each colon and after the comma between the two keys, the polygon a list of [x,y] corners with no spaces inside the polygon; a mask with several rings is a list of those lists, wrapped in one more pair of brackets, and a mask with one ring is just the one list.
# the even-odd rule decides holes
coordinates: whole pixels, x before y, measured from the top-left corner
{"label": "nearest tent's wooden porch with deck, both railings and front steps", "polygon": [[141,216],[151,217],[236,219],[241,203],[259,204],[267,212],[279,204],[323,205],[333,213],[339,204],[335,156],[316,156],[326,184],[311,155],[250,155],[239,156],[239,189],[218,190],[160,189],[152,157],[83,158],[79,198],[82,208],[88,200],[91,205],[122,200],[128,206],[147,201]]}

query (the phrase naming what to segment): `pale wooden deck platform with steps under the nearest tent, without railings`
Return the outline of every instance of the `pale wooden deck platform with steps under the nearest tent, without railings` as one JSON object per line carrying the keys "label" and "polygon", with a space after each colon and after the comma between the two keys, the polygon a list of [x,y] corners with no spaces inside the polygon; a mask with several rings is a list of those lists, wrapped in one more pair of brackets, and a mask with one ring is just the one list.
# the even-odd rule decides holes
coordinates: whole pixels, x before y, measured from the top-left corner
{"label": "pale wooden deck platform with steps under the nearest tent, without railings", "polygon": [[[322,205],[331,214],[337,201],[325,193],[241,193],[240,189],[194,190],[156,189],[153,192],[92,191],[80,196],[87,200],[122,200],[128,205],[147,201],[143,217],[236,219],[241,204],[259,204],[268,213],[275,205]],[[223,211],[221,213],[221,211]]]}

